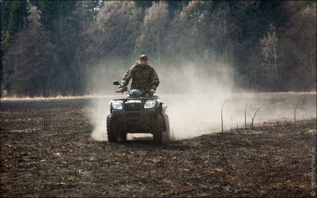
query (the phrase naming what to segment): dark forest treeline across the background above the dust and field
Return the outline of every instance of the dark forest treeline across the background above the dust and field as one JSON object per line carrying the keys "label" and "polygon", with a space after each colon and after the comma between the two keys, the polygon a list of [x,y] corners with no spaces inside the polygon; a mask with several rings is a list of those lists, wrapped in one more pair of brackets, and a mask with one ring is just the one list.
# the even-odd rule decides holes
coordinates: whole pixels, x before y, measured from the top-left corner
{"label": "dark forest treeline across the background above the dust and field", "polygon": [[316,91],[316,0],[0,3],[1,90],[10,95],[93,94],[141,54],[161,70],[192,63],[212,76],[230,66],[248,90]]}

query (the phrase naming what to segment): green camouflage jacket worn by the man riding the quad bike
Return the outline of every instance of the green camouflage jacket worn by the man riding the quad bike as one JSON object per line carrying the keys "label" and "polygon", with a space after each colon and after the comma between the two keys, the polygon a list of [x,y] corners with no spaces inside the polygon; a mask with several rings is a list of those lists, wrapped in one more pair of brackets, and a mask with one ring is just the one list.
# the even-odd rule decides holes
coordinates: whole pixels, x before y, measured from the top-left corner
{"label": "green camouflage jacket worn by the man riding the quad bike", "polygon": [[132,78],[131,88],[130,89],[139,89],[144,90],[152,81],[158,81],[157,85],[150,87],[150,89],[156,90],[159,86],[159,76],[155,69],[148,64],[142,68],[139,61],[132,66],[122,77],[121,85],[119,88],[126,87],[129,84],[130,79]]}

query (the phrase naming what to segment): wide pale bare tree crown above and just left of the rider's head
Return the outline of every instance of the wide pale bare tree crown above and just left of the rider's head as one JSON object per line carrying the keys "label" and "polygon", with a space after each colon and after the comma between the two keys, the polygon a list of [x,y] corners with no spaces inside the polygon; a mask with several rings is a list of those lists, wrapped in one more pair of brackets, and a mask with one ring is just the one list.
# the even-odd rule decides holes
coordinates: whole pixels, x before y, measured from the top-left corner
{"label": "wide pale bare tree crown above and just left of the rider's head", "polygon": [[103,8],[97,15],[97,44],[105,55],[118,56],[117,60],[124,57],[133,49],[135,37],[138,35],[138,16],[140,9],[134,1],[109,0],[104,1]]}

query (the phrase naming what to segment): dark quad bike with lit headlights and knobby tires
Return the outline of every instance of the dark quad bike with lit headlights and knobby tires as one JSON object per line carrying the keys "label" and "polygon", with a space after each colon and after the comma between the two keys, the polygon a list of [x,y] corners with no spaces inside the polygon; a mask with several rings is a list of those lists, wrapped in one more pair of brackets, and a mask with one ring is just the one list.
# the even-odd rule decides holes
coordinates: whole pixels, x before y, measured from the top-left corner
{"label": "dark quad bike with lit headlights and knobby tires", "polygon": [[[142,91],[129,90],[128,87],[115,91],[117,93],[127,91],[129,95],[109,102],[110,114],[106,118],[109,142],[125,141],[128,133],[151,133],[155,143],[168,142],[170,132],[168,116],[165,114],[166,104],[157,95],[142,97],[144,93],[149,93],[149,87],[157,83],[153,81]],[[116,80],[113,84],[120,85]]]}

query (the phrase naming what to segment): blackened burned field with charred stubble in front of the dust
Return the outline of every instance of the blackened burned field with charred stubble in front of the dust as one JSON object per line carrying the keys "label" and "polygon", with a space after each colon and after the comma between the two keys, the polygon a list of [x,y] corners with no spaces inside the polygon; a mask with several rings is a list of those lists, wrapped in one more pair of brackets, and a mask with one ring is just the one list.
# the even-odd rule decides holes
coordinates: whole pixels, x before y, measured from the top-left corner
{"label": "blackened burned field with charred stubble in front of the dust", "polygon": [[1,101],[1,197],[316,197],[316,119],[109,143],[86,102]]}

